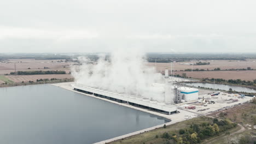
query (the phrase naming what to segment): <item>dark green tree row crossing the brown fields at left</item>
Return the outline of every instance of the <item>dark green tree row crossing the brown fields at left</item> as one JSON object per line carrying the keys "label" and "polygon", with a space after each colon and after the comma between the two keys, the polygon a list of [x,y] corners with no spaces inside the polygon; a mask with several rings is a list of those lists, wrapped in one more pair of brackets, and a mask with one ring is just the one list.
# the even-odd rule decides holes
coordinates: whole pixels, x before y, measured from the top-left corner
{"label": "dark green tree row crossing the brown fields at left", "polygon": [[[17,75],[51,75],[51,74],[66,74],[66,71],[62,70],[38,70],[38,71],[18,71]],[[10,75],[15,75],[14,72],[11,72]]]}

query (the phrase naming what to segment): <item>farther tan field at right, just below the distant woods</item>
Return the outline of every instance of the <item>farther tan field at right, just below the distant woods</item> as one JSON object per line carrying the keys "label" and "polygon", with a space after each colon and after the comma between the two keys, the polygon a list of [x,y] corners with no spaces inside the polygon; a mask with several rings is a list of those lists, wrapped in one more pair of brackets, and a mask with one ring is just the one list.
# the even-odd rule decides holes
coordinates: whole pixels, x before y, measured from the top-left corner
{"label": "farther tan field at right, just below the distant woods", "polygon": [[[191,65],[182,65],[183,63],[196,63],[198,61],[191,62],[177,62],[172,63],[173,70],[185,70],[191,69]],[[210,62],[210,65],[193,65],[193,69],[209,69],[213,70],[214,68],[220,69],[242,69],[251,67],[252,69],[256,69],[256,59],[247,59],[247,61],[234,61],[234,60],[213,60],[213,61],[202,61],[202,62]],[[147,63],[147,65],[155,67],[155,63]],[[156,69],[158,71],[163,71],[165,69],[171,69],[170,63],[156,63]]]}

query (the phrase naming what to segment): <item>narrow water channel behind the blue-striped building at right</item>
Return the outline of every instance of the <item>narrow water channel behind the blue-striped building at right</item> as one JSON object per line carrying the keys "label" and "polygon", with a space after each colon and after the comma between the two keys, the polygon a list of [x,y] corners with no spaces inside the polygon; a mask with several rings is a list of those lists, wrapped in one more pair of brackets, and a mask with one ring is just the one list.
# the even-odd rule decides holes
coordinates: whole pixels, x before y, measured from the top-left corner
{"label": "narrow water channel behind the blue-striped building at right", "polygon": [[206,88],[215,88],[215,89],[222,89],[225,91],[229,91],[229,88],[232,88],[233,91],[237,92],[248,92],[248,93],[256,93],[256,90],[247,87],[237,87],[237,86],[229,86],[229,85],[220,85],[214,83],[184,83],[188,86],[195,86],[195,87],[206,87]]}

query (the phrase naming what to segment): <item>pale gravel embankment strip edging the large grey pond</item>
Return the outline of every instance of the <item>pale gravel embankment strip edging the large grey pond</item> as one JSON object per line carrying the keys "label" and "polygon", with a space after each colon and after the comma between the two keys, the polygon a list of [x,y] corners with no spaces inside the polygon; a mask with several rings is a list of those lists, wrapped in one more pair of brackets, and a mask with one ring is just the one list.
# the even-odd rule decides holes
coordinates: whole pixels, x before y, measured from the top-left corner
{"label": "pale gravel embankment strip edging the large grey pond", "polygon": [[[101,99],[101,100],[104,100],[104,101],[108,101],[109,103],[114,103],[114,104],[130,107],[131,109],[147,112],[147,113],[150,113],[150,114],[153,114],[153,115],[156,115],[156,116],[160,116],[160,117],[164,117],[164,118],[170,119],[171,122],[164,123],[165,125],[171,125],[171,124],[174,124],[174,123],[177,123],[177,122],[185,121],[185,120],[187,120],[186,118],[184,118],[185,116],[194,116],[194,117],[198,116],[198,115],[196,115],[193,112],[184,111],[184,110],[180,110],[180,109],[179,109],[180,113],[174,113],[172,115],[165,115],[163,113],[154,112],[154,111],[150,111],[150,110],[147,110],[147,109],[142,109],[140,107],[135,107],[135,106],[131,106],[131,105],[124,104],[124,103],[118,103],[117,101],[108,100],[108,99],[104,99],[104,98],[100,98],[100,97],[95,97],[94,95],[90,95],[90,94],[85,94],[85,93],[82,93],[82,92],[74,91],[72,89],[72,87],[71,87],[72,83],[73,82],[51,83],[50,85],[53,85],[53,86],[56,86],[56,87],[60,87],[60,88],[64,88],[64,89],[67,89],[67,90],[72,91],[72,92],[84,94],[84,95],[89,96],[89,97],[93,97],[93,98]],[[156,125],[154,127],[150,127],[150,128],[147,128],[147,129],[142,129],[142,130],[134,131],[134,132],[129,133],[129,134],[113,137],[112,139],[96,142],[95,144],[103,144],[103,143],[108,143],[108,142],[124,139],[124,138],[129,137],[129,136],[133,136],[133,135],[144,133],[145,131],[149,131],[149,130],[153,130],[153,129],[156,129],[156,128],[164,127],[164,124]]]}

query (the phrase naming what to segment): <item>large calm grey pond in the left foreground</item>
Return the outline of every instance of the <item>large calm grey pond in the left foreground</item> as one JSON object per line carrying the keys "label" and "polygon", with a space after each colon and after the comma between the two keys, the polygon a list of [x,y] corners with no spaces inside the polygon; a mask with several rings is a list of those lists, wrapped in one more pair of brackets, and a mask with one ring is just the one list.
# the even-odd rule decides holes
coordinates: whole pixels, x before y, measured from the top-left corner
{"label": "large calm grey pond in the left foreground", "polygon": [[94,143],[165,122],[51,85],[0,88],[0,143]]}

